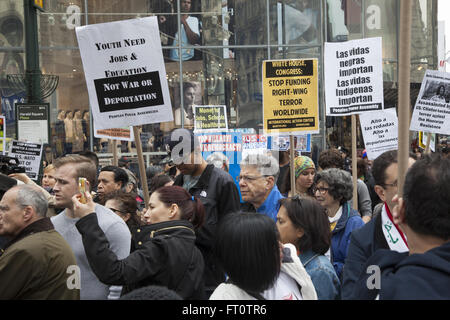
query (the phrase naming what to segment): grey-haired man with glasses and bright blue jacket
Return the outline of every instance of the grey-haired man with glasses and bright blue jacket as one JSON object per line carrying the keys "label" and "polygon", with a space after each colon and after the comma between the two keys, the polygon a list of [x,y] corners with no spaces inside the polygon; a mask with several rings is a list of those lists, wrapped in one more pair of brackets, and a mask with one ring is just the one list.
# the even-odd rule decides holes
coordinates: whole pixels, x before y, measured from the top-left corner
{"label": "grey-haired man with glasses and bright blue jacket", "polygon": [[259,212],[277,221],[279,201],[284,198],[276,185],[280,173],[277,159],[266,154],[249,154],[241,163],[238,177],[242,210]]}

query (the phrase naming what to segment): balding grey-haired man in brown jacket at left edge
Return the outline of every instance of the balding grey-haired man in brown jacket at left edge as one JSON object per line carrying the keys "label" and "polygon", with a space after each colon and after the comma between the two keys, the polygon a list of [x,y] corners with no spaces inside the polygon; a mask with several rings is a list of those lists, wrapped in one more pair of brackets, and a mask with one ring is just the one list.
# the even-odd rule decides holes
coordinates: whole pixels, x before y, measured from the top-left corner
{"label": "balding grey-haired man in brown jacket at left edge", "polygon": [[80,298],[75,256],[45,217],[48,202],[30,185],[9,189],[0,201],[0,299]]}

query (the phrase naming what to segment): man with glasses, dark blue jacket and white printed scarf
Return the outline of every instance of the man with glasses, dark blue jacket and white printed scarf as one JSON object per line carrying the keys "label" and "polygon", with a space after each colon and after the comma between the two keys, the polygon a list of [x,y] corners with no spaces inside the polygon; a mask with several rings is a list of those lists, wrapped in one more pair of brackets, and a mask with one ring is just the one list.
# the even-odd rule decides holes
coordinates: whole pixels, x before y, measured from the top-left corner
{"label": "man with glasses, dark blue jacket and white printed scarf", "polygon": [[[408,167],[414,162],[410,157]],[[395,206],[392,199],[398,192],[397,150],[386,151],[376,158],[372,174],[375,179],[375,192],[383,201],[383,205],[375,208],[374,218],[370,222],[352,233],[344,266],[342,299],[358,299],[354,296],[355,282],[360,274],[366,272],[363,270],[364,265],[376,250],[409,251],[406,236],[392,219]]]}

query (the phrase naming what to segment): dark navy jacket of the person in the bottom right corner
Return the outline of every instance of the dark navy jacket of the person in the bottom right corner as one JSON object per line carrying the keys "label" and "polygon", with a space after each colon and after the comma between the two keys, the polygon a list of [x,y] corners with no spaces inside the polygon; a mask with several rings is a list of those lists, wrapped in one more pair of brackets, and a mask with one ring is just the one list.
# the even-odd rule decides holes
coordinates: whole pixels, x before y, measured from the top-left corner
{"label": "dark navy jacket of the person in the bottom right corner", "polygon": [[[380,289],[368,289],[373,273],[362,274],[355,285],[359,299],[449,300],[450,242],[423,254],[398,253],[380,249],[366,266],[379,266]],[[371,278],[369,278],[371,277]]]}

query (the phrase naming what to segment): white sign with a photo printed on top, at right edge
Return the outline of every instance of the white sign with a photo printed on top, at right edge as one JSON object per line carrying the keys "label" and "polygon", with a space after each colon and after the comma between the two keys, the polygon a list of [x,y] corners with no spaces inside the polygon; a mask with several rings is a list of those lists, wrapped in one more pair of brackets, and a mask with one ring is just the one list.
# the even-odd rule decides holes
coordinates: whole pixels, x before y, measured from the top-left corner
{"label": "white sign with a photo printed on top, at right edge", "polygon": [[411,131],[450,134],[450,73],[427,70],[411,118]]}

